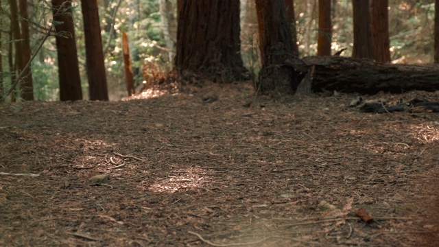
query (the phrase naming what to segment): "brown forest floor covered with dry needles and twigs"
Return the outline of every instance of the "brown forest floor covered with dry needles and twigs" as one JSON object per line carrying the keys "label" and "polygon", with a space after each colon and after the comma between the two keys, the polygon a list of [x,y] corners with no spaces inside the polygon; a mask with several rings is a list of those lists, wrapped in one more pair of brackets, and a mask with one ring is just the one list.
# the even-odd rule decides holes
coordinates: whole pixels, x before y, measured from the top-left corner
{"label": "brown forest floor covered with dry needles and twigs", "polygon": [[438,246],[439,114],[354,98],[1,104],[0,246]]}

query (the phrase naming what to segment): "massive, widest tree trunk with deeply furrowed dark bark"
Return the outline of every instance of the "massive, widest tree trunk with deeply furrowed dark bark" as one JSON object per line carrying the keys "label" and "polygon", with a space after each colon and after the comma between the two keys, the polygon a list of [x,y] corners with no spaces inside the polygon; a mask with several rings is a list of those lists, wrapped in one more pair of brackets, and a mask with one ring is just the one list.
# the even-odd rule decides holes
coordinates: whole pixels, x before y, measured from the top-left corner
{"label": "massive, widest tree trunk with deeply furrowed dark bark", "polygon": [[248,77],[239,39],[239,1],[185,0],[178,17],[176,69],[213,82]]}

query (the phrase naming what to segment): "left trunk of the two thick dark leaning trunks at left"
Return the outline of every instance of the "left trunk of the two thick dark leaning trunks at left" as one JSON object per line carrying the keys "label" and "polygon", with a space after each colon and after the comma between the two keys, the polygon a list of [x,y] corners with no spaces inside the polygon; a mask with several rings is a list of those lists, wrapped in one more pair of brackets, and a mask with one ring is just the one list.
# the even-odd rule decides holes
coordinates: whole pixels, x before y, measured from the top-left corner
{"label": "left trunk of the two thick dark leaning trunks at left", "polygon": [[[55,26],[58,33],[56,35],[56,52],[58,54],[60,100],[80,100],[82,99],[82,89],[71,0],[52,0],[52,5],[54,20],[62,22],[62,24]],[[64,35],[61,36],[60,32],[63,32]]]}

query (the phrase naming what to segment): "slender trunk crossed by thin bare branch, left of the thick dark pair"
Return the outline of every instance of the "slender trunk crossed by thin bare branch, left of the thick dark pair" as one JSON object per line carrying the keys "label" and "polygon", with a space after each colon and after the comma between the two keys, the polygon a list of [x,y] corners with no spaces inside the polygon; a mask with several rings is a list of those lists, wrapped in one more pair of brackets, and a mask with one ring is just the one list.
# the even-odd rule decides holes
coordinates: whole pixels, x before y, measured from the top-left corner
{"label": "slender trunk crossed by thin bare branch, left of the thick dark pair", "polygon": [[[27,0],[20,1],[20,15],[21,15],[21,38],[23,43],[21,49],[23,49],[23,58],[21,60],[21,69],[26,67],[32,57],[32,51],[30,50],[30,38],[29,38],[29,15],[27,14]],[[20,84],[21,98],[24,100],[34,100],[34,86],[32,85],[32,69],[28,67],[25,71],[25,76],[21,80]]]}

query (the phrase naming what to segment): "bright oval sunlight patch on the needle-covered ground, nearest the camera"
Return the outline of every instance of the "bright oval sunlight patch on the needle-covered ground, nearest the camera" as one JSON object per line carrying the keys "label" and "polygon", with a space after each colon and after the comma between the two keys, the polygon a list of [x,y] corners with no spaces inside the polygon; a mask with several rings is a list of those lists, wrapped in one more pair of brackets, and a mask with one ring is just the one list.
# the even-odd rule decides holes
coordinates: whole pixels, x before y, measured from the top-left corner
{"label": "bright oval sunlight patch on the needle-covered ground, nearest the camera", "polygon": [[194,189],[209,183],[211,176],[206,176],[206,171],[200,167],[188,167],[171,172],[167,178],[158,178],[156,183],[148,187],[150,191],[174,193],[179,189]]}

